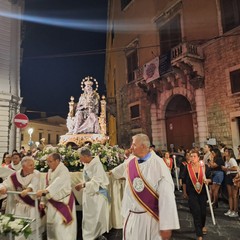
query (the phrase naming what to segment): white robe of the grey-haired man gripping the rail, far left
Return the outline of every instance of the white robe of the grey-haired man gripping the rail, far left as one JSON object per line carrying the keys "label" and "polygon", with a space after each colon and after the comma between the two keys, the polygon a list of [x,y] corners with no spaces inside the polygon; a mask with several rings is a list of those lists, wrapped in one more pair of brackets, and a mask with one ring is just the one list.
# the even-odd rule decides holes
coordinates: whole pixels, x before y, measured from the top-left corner
{"label": "white robe of the grey-haired man gripping the rail, far left", "polygon": [[[40,184],[40,174],[37,170],[34,170],[34,172],[32,174],[29,174],[25,177],[21,176],[21,171],[22,170],[18,170],[16,172],[16,177],[19,183],[21,183],[23,189],[26,188],[32,188],[33,192],[36,192],[39,189],[39,184]],[[16,190],[13,182],[11,180],[11,176],[9,176],[2,184],[2,186],[6,187],[8,191],[22,191],[22,190]],[[1,188],[0,185],[0,188]],[[11,198],[9,198],[9,196],[11,196]],[[44,231],[44,219],[40,219],[40,215],[39,212],[35,210],[35,207],[29,206],[28,204],[26,204],[17,194],[14,195],[9,195],[8,196],[8,203],[7,203],[7,209],[6,209],[6,213],[12,213],[16,216],[20,216],[20,217],[27,217],[30,219],[38,219],[38,228],[39,228],[39,233],[41,234]],[[32,197],[30,195],[30,197]],[[9,201],[10,199],[14,199],[14,201]],[[32,234],[28,237],[28,240],[36,240],[36,235],[35,235],[35,231],[36,231],[36,220],[33,222],[33,224],[31,224],[31,228],[32,228]],[[39,237],[41,239],[41,237]],[[16,240],[22,240],[22,239],[26,239],[23,235],[19,236],[19,237],[15,237]]]}

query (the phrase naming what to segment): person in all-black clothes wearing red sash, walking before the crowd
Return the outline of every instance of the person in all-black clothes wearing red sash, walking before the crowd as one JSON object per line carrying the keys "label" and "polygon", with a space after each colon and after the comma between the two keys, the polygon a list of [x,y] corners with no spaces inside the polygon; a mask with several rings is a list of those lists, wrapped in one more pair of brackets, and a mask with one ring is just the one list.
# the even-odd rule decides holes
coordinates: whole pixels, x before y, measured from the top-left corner
{"label": "person in all-black clothes wearing red sash, walking before the crowd", "polygon": [[198,240],[202,240],[203,234],[207,233],[205,227],[207,194],[204,184],[211,182],[210,177],[209,167],[200,162],[199,152],[192,150],[191,162],[186,165],[181,178],[183,197],[188,199]]}

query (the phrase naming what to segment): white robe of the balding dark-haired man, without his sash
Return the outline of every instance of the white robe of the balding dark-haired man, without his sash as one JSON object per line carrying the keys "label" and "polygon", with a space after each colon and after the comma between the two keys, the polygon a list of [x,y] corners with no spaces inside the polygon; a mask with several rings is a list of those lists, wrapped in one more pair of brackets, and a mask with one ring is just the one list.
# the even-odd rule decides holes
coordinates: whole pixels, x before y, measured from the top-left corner
{"label": "white robe of the balding dark-haired man, without his sash", "polygon": [[[68,204],[71,188],[71,177],[66,166],[60,162],[57,168],[48,171],[48,186],[46,189],[49,194],[46,198]],[[48,201],[47,204],[47,236],[48,240],[76,240],[77,238],[77,218],[76,206],[73,204],[73,221],[69,224],[63,222],[60,212]]]}

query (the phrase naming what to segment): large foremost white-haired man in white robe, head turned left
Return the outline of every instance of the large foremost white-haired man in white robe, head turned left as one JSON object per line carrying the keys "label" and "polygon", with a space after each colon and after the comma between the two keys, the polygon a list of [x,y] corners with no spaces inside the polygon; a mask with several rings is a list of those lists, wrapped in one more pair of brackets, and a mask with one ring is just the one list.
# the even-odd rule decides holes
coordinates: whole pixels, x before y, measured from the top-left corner
{"label": "large foremost white-haired man in white robe, head turned left", "polygon": [[[179,229],[179,219],[174,195],[174,183],[170,172],[163,159],[150,151],[150,141],[147,135],[137,134],[133,136],[132,153],[139,158],[141,163],[137,163],[144,181],[158,194],[158,213],[153,217],[137,200],[131,189],[128,164],[137,160],[130,156],[123,164],[111,171],[114,178],[126,178],[126,186],[122,202],[122,215],[124,217],[123,239],[124,240],[167,240],[171,238],[172,230]],[[134,159],[135,158],[135,159]],[[141,159],[140,159],[141,158]],[[139,161],[139,162],[140,162]],[[128,172],[129,171],[129,172]],[[137,178],[139,180],[139,178]],[[146,188],[144,181],[134,185],[136,192],[141,192]],[[146,204],[147,205],[147,204]]]}

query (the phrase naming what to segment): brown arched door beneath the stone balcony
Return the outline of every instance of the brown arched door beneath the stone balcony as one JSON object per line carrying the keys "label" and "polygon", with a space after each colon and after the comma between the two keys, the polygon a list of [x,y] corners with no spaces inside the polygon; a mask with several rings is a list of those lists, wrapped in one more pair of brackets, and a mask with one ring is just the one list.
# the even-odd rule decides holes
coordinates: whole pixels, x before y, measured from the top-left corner
{"label": "brown arched door beneath the stone balcony", "polygon": [[174,96],[166,108],[167,146],[177,150],[183,146],[191,149],[194,142],[192,108],[189,101],[182,95]]}

